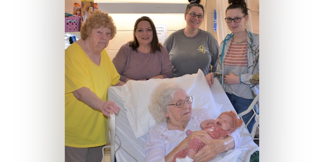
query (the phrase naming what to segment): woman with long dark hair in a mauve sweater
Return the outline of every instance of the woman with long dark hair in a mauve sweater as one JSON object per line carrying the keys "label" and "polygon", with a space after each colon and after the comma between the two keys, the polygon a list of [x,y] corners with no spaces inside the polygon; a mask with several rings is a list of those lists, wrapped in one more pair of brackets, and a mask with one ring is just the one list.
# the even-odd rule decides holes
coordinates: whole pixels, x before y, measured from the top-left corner
{"label": "woman with long dark hair in a mauve sweater", "polygon": [[158,42],[154,23],[146,16],[137,19],[134,41],[121,46],[112,62],[125,83],[173,77],[168,51]]}

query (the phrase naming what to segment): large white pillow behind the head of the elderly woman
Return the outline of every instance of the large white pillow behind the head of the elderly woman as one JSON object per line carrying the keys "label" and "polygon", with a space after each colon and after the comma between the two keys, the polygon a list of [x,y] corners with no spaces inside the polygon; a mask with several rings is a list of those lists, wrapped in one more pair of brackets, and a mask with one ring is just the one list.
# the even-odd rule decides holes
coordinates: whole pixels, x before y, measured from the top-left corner
{"label": "large white pillow behind the head of the elderly woman", "polygon": [[181,77],[149,79],[147,81],[130,80],[122,86],[121,94],[124,101],[129,123],[136,138],[149,132],[155,125],[155,120],[149,113],[148,105],[152,91],[163,82],[175,82],[186,90],[188,96],[193,97],[192,108],[206,108],[214,117],[217,117],[221,105],[215,104],[212,92],[208,86],[204,72],[200,69],[196,74],[187,74]]}

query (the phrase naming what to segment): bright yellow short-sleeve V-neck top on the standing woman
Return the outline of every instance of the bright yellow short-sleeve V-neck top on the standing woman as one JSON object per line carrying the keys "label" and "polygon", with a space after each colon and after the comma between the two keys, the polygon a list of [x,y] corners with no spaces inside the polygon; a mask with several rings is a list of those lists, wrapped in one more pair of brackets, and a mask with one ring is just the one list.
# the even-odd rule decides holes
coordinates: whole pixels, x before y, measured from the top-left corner
{"label": "bright yellow short-sleeve V-neck top on the standing woman", "polygon": [[105,50],[101,51],[99,66],[76,43],[65,50],[65,146],[84,148],[107,143],[107,117],[78,101],[72,92],[86,87],[107,101],[108,87],[118,84],[119,78]]}

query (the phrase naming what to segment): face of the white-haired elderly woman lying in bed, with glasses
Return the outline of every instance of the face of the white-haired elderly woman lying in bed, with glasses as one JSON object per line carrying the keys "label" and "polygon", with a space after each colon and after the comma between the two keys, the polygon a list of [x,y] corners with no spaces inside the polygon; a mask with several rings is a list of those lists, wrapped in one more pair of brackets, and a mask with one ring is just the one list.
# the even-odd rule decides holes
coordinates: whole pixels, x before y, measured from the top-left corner
{"label": "face of the white-haired elderly woman lying in bed, with glasses", "polygon": [[[188,104],[188,95],[186,91],[181,90],[174,93],[173,100],[168,103],[169,109],[165,112],[167,118],[168,128],[184,130],[191,118],[192,107],[191,103]],[[187,101],[184,102],[183,107],[178,107],[175,105],[179,103],[179,101]]]}

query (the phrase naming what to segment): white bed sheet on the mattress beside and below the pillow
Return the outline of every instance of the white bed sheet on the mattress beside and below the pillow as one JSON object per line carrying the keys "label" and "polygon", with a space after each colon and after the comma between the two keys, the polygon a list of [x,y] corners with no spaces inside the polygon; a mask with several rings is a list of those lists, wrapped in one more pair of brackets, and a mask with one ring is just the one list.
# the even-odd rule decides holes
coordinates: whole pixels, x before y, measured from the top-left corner
{"label": "white bed sheet on the mattress beside and below the pillow", "polygon": [[[230,103],[217,79],[215,79],[214,85],[211,88],[211,92],[216,104],[223,105],[220,112],[234,110],[232,104]],[[114,101],[120,107],[119,114],[116,115],[115,150],[118,149],[120,144],[120,148],[115,152],[116,160],[118,162],[145,161],[144,143],[148,135],[146,134],[139,138],[135,137],[127,118],[124,104],[121,100],[121,87],[109,87],[108,98],[109,100]],[[238,149],[229,150],[227,152],[219,154],[212,161],[250,161],[251,154],[259,150],[259,146],[254,143],[253,139],[250,137],[250,134],[244,127],[240,127],[238,131],[241,135],[241,146]],[[129,154],[131,154],[136,160]]]}

